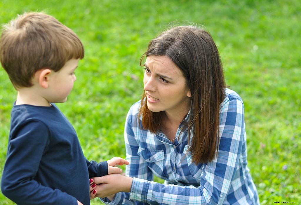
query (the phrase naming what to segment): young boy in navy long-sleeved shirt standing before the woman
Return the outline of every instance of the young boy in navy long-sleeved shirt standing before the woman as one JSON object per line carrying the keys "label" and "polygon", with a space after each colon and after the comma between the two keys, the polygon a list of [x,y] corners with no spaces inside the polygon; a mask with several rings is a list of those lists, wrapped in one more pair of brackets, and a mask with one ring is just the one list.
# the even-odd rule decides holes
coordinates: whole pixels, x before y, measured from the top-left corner
{"label": "young boy in navy long-sleeved shirt standing before the woman", "polygon": [[67,100],[83,57],[78,36],[52,16],[25,13],[4,27],[0,61],[18,94],[1,190],[17,204],[90,204],[96,190],[89,177],[120,173],[114,166],[129,164],[119,157],[85,159],[73,126],[54,104]]}

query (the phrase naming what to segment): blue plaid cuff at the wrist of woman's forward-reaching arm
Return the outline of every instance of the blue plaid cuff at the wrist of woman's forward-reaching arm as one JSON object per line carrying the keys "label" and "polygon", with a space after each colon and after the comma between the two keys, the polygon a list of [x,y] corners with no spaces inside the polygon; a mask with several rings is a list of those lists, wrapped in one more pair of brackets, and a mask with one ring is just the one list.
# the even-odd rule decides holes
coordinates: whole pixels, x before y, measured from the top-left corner
{"label": "blue plaid cuff at the wrist of woman's forward-reaching arm", "polygon": [[150,182],[143,179],[133,178],[130,200],[147,202],[147,192],[150,186]]}

